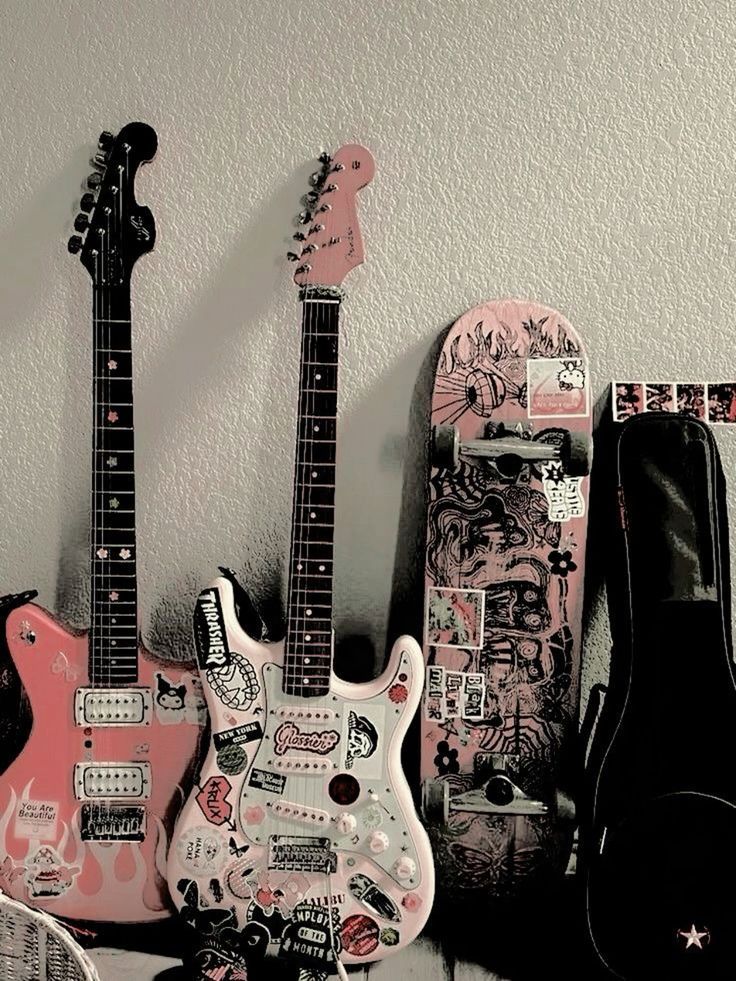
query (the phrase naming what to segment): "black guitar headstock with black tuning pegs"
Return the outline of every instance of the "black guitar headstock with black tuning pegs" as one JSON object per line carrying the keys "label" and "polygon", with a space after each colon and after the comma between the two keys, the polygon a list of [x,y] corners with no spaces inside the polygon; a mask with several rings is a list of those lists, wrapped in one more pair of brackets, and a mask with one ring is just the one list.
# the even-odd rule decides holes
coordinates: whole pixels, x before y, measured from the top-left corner
{"label": "black guitar headstock with black tuning pegs", "polygon": [[80,234],[69,239],[95,286],[129,281],[140,256],[150,252],[156,226],[149,208],[135,199],[135,178],[141,164],[152,160],[158,139],[145,123],[128,123],[117,136],[102,133],[74,220]]}

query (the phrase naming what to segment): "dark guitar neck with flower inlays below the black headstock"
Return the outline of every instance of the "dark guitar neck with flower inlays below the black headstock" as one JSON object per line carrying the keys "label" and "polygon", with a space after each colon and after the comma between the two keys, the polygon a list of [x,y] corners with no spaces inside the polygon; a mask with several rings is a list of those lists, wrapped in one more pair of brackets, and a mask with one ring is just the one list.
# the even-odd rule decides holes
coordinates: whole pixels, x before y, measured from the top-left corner
{"label": "dark guitar neck with flower inlays below the black headstock", "polygon": [[92,685],[138,680],[130,283],[94,287]]}

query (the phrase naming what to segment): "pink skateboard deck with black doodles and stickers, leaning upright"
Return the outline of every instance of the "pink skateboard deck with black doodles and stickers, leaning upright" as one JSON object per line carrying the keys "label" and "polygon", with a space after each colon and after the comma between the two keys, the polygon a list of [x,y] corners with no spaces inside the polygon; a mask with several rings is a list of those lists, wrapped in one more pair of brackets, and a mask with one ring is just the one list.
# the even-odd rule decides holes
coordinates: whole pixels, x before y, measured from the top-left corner
{"label": "pink skateboard deck with black doodles and stickers, leaning upright", "polygon": [[421,724],[438,885],[514,895],[564,874],[591,462],[588,367],[560,314],[463,314],[432,396]]}

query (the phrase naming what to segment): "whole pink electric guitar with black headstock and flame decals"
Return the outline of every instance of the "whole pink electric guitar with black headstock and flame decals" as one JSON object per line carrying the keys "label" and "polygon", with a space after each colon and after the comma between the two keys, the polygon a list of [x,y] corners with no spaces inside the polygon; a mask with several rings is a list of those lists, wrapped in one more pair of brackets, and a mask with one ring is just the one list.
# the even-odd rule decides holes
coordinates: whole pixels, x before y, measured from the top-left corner
{"label": "whole pink electric guitar with black headstock and flame decals", "polygon": [[170,915],[166,850],[206,719],[196,675],[153,661],[138,638],[130,275],[153,248],[134,180],[156,145],[142,123],[102,134],[75,221],[86,236],[69,242],[94,297],[90,630],[33,604],[6,627],[33,726],[0,776],[0,889],[93,921]]}

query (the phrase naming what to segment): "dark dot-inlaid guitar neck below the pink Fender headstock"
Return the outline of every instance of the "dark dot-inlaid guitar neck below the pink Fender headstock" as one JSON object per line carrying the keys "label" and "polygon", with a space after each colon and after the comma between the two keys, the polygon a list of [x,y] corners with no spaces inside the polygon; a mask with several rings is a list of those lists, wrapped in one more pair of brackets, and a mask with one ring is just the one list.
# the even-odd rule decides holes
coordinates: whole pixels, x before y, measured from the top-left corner
{"label": "dark dot-inlaid guitar neck below the pink Fender headstock", "polygon": [[338,328],[341,292],[308,287],[302,299],[301,368],[283,688],[330,689],[335,532]]}

